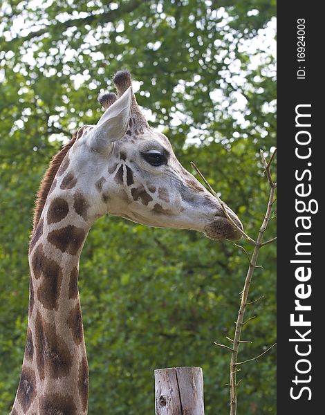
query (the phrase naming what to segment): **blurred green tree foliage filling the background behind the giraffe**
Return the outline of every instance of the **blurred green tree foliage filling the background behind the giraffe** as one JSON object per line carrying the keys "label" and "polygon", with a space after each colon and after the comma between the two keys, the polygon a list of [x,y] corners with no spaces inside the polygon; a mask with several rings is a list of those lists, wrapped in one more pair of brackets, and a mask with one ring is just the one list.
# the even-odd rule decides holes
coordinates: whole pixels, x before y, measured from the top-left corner
{"label": "blurred green tree foliage filling the background behind the giraffe", "polygon": [[[259,149],[275,145],[275,62],[263,35],[274,15],[273,0],[1,3],[1,413],[24,354],[35,192],[62,140],[99,118],[97,95],[115,71],[131,71],[151,125],[257,234],[268,197]],[[227,414],[229,356],[213,340],[232,333],[246,261],[197,232],[97,221],[80,267],[89,414],[153,413],[153,370],[195,365],[206,413]],[[259,261],[251,296],[265,299],[252,306],[242,360],[275,340],[275,246]],[[275,414],[274,351],[240,376],[239,412]]]}

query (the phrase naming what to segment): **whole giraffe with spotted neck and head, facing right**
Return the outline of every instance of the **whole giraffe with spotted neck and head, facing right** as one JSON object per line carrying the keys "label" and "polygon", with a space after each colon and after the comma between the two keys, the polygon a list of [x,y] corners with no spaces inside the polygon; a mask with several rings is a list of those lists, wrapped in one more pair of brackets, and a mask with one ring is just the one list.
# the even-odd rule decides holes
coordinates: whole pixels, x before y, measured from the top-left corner
{"label": "whole giraffe with spotted neck and head, facing right", "polygon": [[[89,369],[77,279],[91,225],[104,214],[160,228],[239,239],[219,202],[149,127],[128,71],[99,100],[95,126],[73,134],[50,163],[37,195],[29,246],[28,329],[11,415],[85,415]],[[232,219],[242,229],[236,214]]]}

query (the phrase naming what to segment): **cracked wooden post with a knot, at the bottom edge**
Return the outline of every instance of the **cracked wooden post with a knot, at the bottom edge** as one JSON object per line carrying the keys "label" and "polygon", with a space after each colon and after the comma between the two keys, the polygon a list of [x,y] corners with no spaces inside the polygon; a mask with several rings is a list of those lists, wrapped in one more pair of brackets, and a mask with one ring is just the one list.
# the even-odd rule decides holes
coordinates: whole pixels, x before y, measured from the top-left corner
{"label": "cracked wooden post with a knot, at the bottom edge", "polygon": [[201,367],[155,370],[156,415],[204,415]]}

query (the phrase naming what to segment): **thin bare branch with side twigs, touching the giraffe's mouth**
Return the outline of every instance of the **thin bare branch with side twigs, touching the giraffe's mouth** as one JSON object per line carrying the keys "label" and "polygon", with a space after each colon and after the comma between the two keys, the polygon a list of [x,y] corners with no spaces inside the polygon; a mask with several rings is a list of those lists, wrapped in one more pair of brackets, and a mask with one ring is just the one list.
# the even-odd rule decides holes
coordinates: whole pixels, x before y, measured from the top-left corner
{"label": "thin bare branch with side twigs, touching the giraffe's mouth", "polygon": [[268,178],[268,185],[269,185],[270,193],[269,193],[269,197],[268,197],[268,206],[266,208],[266,214],[264,216],[261,228],[259,229],[259,234],[257,236],[256,241],[254,241],[254,239],[252,239],[247,234],[245,234],[245,232],[243,232],[236,225],[236,223],[234,223],[232,218],[228,215],[228,212],[225,210],[225,205],[223,205],[223,202],[221,201],[219,196],[216,194],[216,192],[214,192],[214,190],[212,189],[210,184],[207,182],[207,180],[205,179],[203,174],[198,170],[198,167],[196,167],[196,165],[194,163],[192,163],[192,166],[194,167],[194,169],[196,169],[196,172],[198,172],[199,176],[201,176],[201,178],[204,181],[205,185],[207,185],[210,192],[212,192],[212,194],[214,194],[216,199],[221,204],[221,208],[223,209],[223,212],[224,212],[226,218],[228,219],[228,221],[230,221],[232,226],[234,226],[234,228],[243,237],[248,239],[248,241],[250,241],[250,243],[252,243],[254,245],[254,250],[253,250],[251,258],[249,257],[248,253],[246,252],[246,250],[243,247],[237,245],[239,248],[241,248],[245,252],[246,257],[248,257],[249,266],[248,266],[248,271],[247,271],[246,278],[245,278],[245,283],[244,283],[244,286],[243,286],[243,291],[241,292],[241,305],[239,307],[238,317],[237,317],[237,320],[235,322],[236,328],[235,328],[235,331],[234,331],[234,340],[228,338],[228,340],[230,340],[232,342],[232,347],[228,347],[228,346],[225,346],[224,344],[219,344],[217,342],[214,342],[214,344],[216,344],[217,346],[223,347],[223,349],[228,349],[229,351],[231,351],[230,384],[228,385],[228,386],[230,386],[230,415],[236,415],[236,412],[237,412],[237,387],[238,387],[239,382],[240,382],[240,381],[237,382],[237,380],[236,380],[236,374],[237,374],[237,371],[239,371],[238,365],[243,365],[243,363],[250,362],[252,360],[257,360],[258,358],[260,358],[264,354],[268,353],[268,351],[270,351],[276,345],[276,343],[273,344],[271,347],[266,349],[266,351],[263,351],[263,353],[259,354],[259,356],[257,356],[256,358],[244,360],[243,362],[238,362],[237,361],[238,360],[238,354],[239,354],[239,345],[243,342],[246,342],[244,340],[241,340],[241,331],[243,329],[244,324],[248,323],[250,320],[252,320],[254,318],[254,317],[250,317],[248,320],[244,321],[245,308],[246,308],[246,306],[248,306],[250,304],[254,304],[255,302],[259,301],[259,299],[261,299],[263,297],[263,296],[259,297],[258,299],[255,299],[252,302],[248,302],[248,293],[249,293],[249,289],[250,289],[250,283],[252,282],[252,276],[254,274],[255,268],[259,267],[259,266],[257,266],[257,258],[259,256],[259,250],[263,246],[266,246],[269,243],[272,243],[277,239],[277,238],[272,238],[272,239],[269,239],[268,241],[265,241],[265,242],[262,241],[263,240],[263,234],[266,231],[266,228],[268,226],[268,222],[271,219],[273,203],[275,203],[275,190],[277,188],[277,183],[275,183],[273,181],[270,167],[272,165],[273,160],[275,159],[276,153],[277,153],[277,149],[275,149],[274,153],[270,157],[270,160],[267,162],[266,158],[264,157],[263,151],[262,150],[260,151],[261,161],[262,161],[263,167],[265,169],[264,172],[266,174],[266,177]]}

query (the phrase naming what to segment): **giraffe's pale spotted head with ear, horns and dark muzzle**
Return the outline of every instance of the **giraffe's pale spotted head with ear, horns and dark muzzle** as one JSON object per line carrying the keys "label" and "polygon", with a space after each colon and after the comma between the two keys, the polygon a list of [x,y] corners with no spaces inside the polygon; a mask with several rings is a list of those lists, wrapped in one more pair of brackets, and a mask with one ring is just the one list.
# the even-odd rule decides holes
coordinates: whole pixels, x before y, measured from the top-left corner
{"label": "giraffe's pale spotted head with ear, horns and dark muzzle", "polygon": [[62,183],[73,172],[89,217],[109,213],[143,225],[198,230],[214,240],[239,239],[219,202],[180,165],[167,137],[149,127],[129,72],[118,72],[113,81],[118,96],[100,97],[104,114],[78,131],[66,172],[58,172]]}

